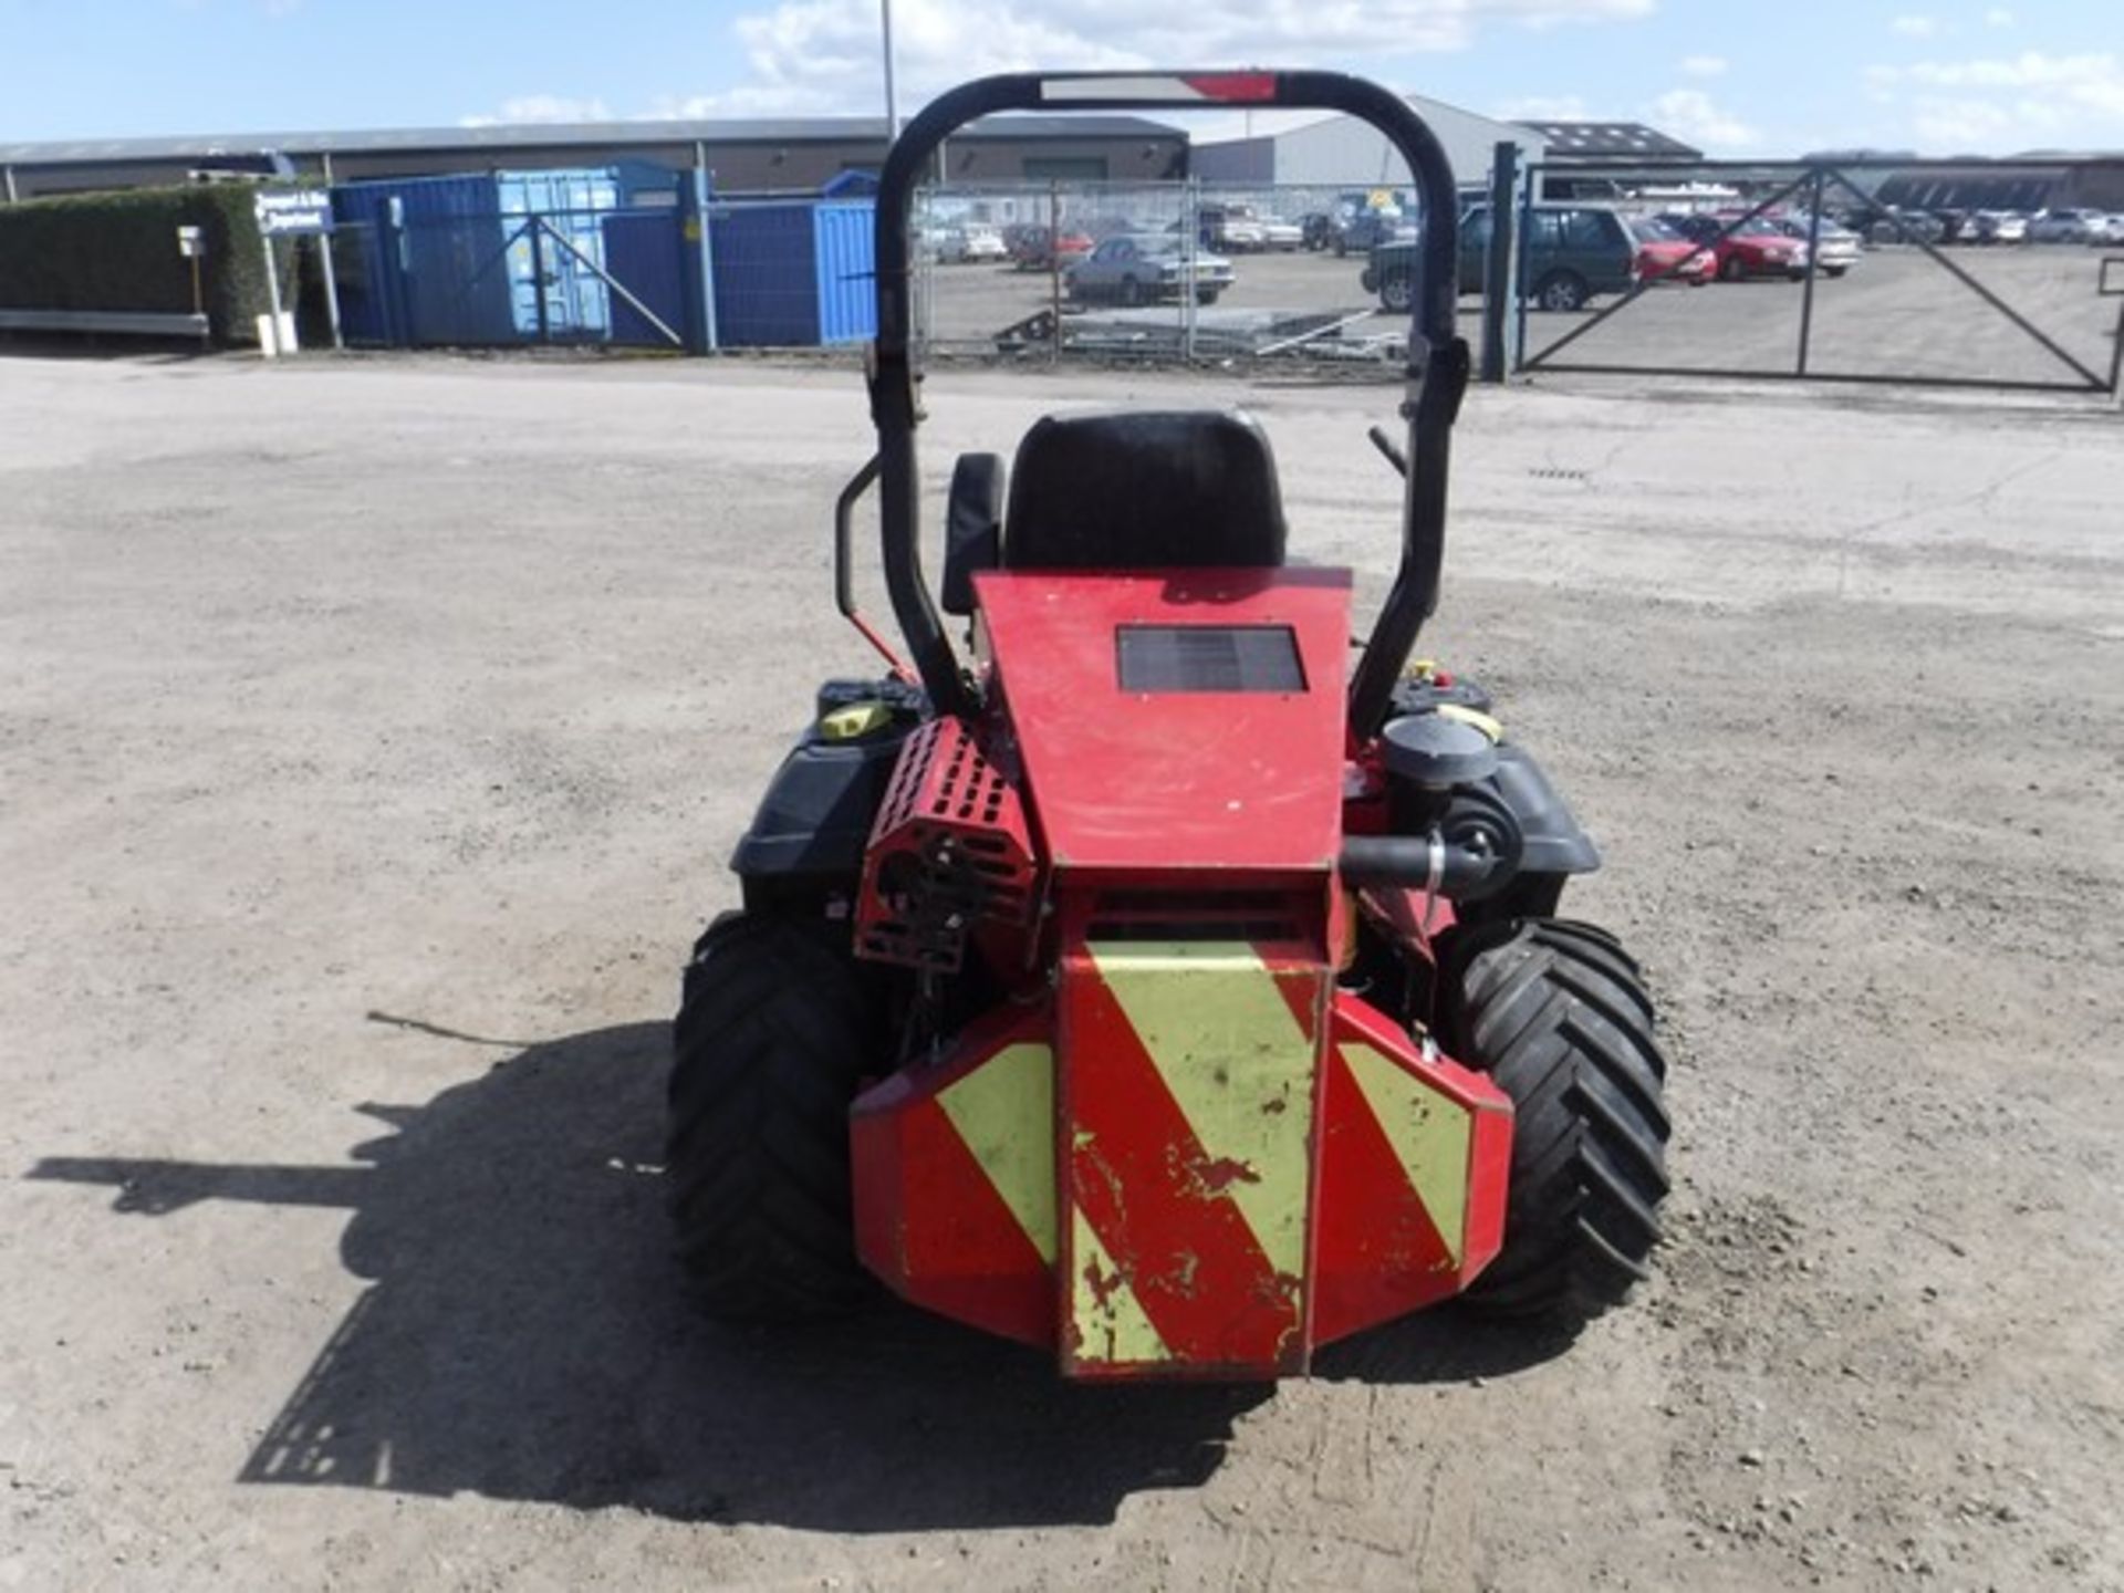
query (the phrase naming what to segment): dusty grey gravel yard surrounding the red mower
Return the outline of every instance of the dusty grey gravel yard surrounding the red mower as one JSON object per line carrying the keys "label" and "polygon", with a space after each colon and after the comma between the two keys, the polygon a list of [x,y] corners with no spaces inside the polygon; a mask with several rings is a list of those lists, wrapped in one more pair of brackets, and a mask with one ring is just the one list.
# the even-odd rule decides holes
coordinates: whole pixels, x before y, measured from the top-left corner
{"label": "dusty grey gravel yard surrounding the red mower", "polygon": [[[939,376],[937,476],[1111,393]],[[1389,393],[1247,397],[1376,599]],[[1674,1236],[1274,1389],[675,1296],[864,448],[847,372],[0,363],[0,1587],[2124,1587],[2116,414],[1470,401],[1429,646],[1604,841]]]}

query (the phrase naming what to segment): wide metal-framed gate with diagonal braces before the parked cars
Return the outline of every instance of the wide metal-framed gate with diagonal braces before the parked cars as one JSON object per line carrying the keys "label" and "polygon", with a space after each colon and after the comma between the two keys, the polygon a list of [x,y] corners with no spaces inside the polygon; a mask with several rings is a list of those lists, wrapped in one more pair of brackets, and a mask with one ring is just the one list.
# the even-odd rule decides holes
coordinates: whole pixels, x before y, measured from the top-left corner
{"label": "wide metal-framed gate with diagonal braces before the parked cars", "polygon": [[[1517,187],[1514,370],[1742,380],[1884,382],[2118,395],[2120,268],[2079,242],[2026,242],[2005,212],[1895,204],[1909,164],[1706,161],[1686,168],[1536,164]],[[1926,161],[1954,193],[1997,161]],[[1937,202],[1937,200],[1935,200]],[[1665,217],[1716,261],[1697,293],[1640,246],[1606,304],[1544,312],[1551,270],[1534,223],[1555,206]],[[1856,236],[1837,217],[1861,223]],[[1765,249],[1782,229],[1788,249]],[[1640,240],[1642,242],[1642,240]],[[1674,251],[1669,249],[1672,257]],[[1568,302],[1570,295],[1551,295]]]}

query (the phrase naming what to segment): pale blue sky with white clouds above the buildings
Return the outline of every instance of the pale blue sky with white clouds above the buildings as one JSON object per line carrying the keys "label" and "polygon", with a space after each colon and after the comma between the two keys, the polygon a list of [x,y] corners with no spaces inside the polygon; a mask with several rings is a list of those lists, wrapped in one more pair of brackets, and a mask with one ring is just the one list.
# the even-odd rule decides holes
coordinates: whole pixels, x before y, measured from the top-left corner
{"label": "pale blue sky with white clouds above the buildings", "polygon": [[[1718,155],[2124,149],[2124,0],[894,0],[901,108],[1009,66],[1311,64]],[[0,142],[877,113],[877,0],[0,0]]]}

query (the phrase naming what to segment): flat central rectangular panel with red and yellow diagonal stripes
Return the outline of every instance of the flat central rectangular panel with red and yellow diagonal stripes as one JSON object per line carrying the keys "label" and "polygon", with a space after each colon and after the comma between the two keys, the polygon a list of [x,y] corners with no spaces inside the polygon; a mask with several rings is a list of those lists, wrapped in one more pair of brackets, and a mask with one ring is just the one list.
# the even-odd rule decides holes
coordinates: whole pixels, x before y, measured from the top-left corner
{"label": "flat central rectangular panel with red and yellow diagonal stripes", "polygon": [[1325,996],[1245,941],[1064,956],[1064,1370],[1304,1370]]}

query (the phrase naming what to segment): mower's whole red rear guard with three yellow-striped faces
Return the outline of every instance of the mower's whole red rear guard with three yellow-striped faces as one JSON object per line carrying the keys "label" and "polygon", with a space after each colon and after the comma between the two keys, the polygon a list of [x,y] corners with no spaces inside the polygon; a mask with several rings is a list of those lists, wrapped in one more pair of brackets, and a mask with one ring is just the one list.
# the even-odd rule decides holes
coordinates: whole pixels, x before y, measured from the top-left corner
{"label": "mower's whole red rear guard with three yellow-striped faces", "polygon": [[1079,943],[854,1109],[856,1247],[1075,1376],[1283,1376],[1457,1294],[1504,1234],[1512,1111],[1325,964]]}

